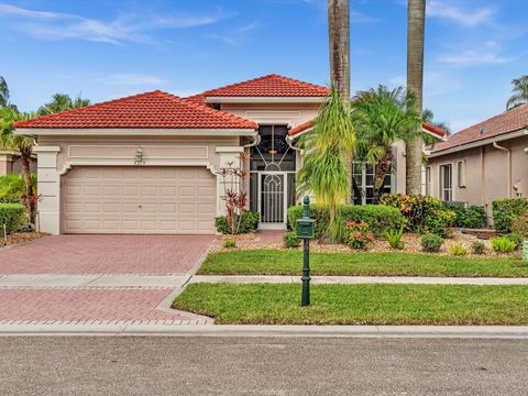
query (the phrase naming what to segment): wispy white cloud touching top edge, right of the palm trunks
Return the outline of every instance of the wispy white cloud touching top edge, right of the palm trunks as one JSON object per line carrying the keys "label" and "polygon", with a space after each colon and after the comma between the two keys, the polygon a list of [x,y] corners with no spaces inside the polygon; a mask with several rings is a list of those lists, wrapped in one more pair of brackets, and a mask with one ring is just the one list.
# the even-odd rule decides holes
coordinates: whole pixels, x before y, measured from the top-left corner
{"label": "wispy white cloud touching top edge, right of the palm trunks", "polygon": [[462,10],[446,1],[431,0],[427,4],[428,16],[446,19],[466,28],[486,25],[493,22],[494,11],[491,8]]}

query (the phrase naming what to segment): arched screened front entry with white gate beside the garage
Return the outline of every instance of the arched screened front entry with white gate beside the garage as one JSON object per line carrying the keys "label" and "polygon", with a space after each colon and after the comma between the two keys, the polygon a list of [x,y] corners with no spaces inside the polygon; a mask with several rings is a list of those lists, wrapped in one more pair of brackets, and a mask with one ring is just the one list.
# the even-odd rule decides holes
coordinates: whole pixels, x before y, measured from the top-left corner
{"label": "arched screened front entry with white gate beside the garage", "polygon": [[295,152],[286,125],[262,125],[258,133],[261,142],[251,151],[251,209],[261,213],[261,228],[284,229],[295,204]]}

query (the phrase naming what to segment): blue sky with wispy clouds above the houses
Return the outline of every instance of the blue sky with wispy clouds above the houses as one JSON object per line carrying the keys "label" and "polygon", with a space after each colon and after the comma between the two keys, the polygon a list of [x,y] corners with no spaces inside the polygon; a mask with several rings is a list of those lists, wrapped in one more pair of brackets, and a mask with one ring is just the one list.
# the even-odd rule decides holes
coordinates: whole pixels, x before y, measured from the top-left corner
{"label": "blue sky with wispy clouds above the houses", "polygon": [[[406,1],[351,0],[354,91],[405,85]],[[0,76],[35,110],[189,96],[271,73],[329,84],[326,0],[0,0]],[[424,106],[453,131],[505,110],[528,74],[528,1],[427,0]]]}

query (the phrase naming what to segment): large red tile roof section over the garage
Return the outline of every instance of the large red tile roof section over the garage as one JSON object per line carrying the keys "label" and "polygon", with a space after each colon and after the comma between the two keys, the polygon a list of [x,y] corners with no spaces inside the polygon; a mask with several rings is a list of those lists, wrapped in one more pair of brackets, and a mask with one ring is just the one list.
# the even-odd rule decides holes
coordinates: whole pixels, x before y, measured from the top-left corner
{"label": "large red tile roof section over the garage", "polygon": [[155,90],[57,114],[15,128],[256,129],[256,123]]}

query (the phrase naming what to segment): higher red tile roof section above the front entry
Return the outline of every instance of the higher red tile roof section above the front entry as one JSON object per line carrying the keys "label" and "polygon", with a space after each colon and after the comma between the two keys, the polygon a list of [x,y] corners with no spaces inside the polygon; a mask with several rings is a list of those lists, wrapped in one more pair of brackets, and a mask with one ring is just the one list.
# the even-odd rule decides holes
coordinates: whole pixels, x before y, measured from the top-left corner
{"label": "higher red tile roof section above the front entry", "polygon": [[206,97],[324,97],[329,88],[271,74],[264,77],[211,89],[189,99]]}

